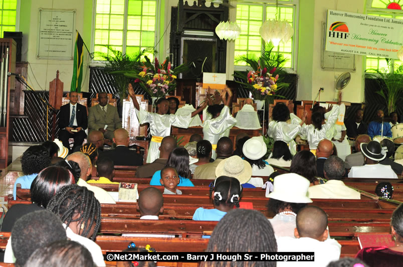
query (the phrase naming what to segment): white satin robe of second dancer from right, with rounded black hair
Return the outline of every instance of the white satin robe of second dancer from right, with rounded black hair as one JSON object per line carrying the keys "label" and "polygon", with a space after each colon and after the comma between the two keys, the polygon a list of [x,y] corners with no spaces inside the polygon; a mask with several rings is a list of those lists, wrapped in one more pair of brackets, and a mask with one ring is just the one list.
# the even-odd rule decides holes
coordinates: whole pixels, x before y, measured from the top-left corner
{"label": "white satin robe of second dancer from right, with rounded black hair", "polygon": [[284,141],[288,144],[290,152],[292,155],[297,153],[297,144],[294,138],[297,136],[301,129],[301,119],[297,117],[294,113],[290,113],[291,123],[286,121],[276,121],[272,120],[269,122],[269,127],[267,128],[267,135],[272,137],[274,141]]}

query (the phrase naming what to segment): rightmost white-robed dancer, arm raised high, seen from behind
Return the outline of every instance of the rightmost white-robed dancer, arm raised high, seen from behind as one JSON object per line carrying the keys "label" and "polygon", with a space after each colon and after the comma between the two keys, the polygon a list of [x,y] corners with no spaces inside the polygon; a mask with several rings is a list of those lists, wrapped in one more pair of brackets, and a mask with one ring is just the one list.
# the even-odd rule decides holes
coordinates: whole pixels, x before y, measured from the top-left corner
{"label": "rightmost white-robed dancer, arm raised high, seen from behind", "polygon": [[324,114],[320,111],[316,111],[311,117],[312,124],[303,125],[301,127],[300,133],[303,135],[304,139],[308,140],[309,149],[311,149],[311,152],[315,151],[316,153],[316,147],[318,146],[319,141],[327,138],[329,130],[332,129],[337,120],[339,111],[340,106],[334,105],[330,111],[329,119],[326,122],[324,119]]}

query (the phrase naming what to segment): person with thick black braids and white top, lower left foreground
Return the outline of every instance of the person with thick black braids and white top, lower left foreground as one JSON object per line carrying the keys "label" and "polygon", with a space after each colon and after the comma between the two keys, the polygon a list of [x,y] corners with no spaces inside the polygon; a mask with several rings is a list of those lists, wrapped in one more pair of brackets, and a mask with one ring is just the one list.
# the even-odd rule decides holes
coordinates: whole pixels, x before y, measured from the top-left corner
{"label": "person with thick black braids and white top, lower left foreground", "polygon": [[85,246],[97,266],[105,266],[101,247],[94,242],[101,225],[101,204],[92,191],[76,184],[64,186],[46,209],[60,217],[67,237]]}

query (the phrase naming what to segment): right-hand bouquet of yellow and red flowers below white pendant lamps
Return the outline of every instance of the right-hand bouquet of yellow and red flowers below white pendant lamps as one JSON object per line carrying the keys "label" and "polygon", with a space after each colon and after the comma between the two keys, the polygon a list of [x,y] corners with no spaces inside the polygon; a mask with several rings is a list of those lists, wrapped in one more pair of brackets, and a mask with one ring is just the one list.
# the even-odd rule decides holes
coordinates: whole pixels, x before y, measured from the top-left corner
{"label": "right-hand bouquet of yellow and red flowers below white pendant lamps", "polygon": [[257,70],[251,70],[247,74],[248,86],[252,92],[253,98],[256,100],[265,100],[268,95],[275,94],[277,90],[277,80],[279,75],[273,76],[272,74],[276,71],[276,67],[272,68],[267,72],[267,67],[261,69],[258,66]]}

